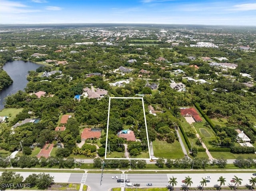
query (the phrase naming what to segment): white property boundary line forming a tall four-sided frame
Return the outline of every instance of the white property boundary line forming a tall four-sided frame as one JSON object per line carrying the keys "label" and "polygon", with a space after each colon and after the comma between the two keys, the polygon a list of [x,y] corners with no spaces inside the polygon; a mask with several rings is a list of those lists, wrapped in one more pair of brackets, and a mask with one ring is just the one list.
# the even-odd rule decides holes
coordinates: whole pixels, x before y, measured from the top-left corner
{"label": "white property boundary line forming a tall four-sided frame", "polygon": [[[107,158],[107,149],[108,149],[108,126],[109,126],[109,114],[110,114],[110,101],[111,99],[141,99],[142,100],[142,108],[143,108],[143,114],[144,114],[144,122],[146,127],[146,135],[147,135],[147,141],[148,141],[148,154],[149,158]],[[108,101],[108,122],[107,122],[107,136],[106,136],[106,148],[105,148],[105,159],[111,159],[111,160],[148,160],[151,159],[151,153],[150,153],[150,146],[149,146],[149,139],[148,139],[148,127],[147,127],[147,121],[146,121],[146,114],[145,114],[145,107],[144,107],[144,99],[143,97],[109,97]]]}

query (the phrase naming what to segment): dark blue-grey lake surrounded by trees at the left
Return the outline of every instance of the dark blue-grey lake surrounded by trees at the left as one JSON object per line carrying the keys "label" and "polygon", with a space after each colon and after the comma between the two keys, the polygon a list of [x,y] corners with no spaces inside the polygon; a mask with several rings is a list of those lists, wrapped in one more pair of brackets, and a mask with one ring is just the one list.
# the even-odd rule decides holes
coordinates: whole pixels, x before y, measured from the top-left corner
{"label": "dark blue-grey lake surrounded by trees at the left", "polygon": [[27,75],[28,71],[34,70],[41,65],[30,62],[30,61],[12,61],[7,62],[3,69],[8,73],[8,75],[13,80],[12,85],[8,86],[6,89],[3,89],[0,91],[0,110],[4,108],[4,98],[8,95],[15,94],[17,91],[21,90],[24,91],[24,88],[26,87],[28,81],[27,81]]}

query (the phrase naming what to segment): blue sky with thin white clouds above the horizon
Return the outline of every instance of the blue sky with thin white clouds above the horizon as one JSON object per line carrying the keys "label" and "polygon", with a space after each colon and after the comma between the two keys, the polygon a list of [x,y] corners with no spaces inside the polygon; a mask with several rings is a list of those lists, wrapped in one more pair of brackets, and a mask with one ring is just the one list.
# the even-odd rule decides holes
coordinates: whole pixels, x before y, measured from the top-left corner
{"label": "blue sky with thin white clouds above the horizon", "polygon": [[256,26],[256,0],[0,0],[0,24]]}

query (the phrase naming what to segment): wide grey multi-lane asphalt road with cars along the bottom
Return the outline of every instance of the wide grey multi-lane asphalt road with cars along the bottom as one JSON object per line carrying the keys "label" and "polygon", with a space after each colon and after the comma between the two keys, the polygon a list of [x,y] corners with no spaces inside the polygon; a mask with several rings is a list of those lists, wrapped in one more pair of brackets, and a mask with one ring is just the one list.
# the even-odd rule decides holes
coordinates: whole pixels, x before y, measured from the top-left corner
{"label": "wide grey multi-lane asphalt road with cars along the bottom", "polygon": [[[28,175],[32,174],[32,172],[17,172],[20,173],[24,177],[28,177]],[[0,175],[2,172],[0,172]],[[38,174],[38,173],[36,173]],[[234,185],[231,183],[230,180],[236,175],[238,178],[242,180],[242,186],[250,185],[249,179],[254,177],[252,173],[186,173],[186,174],[103,174],[102,177],[102,184],[100,185],[100,178],[101,174],[94,174],[94,173],[49,173],[51,176],[54,176],[54,182],[56,183],[84,183],[90,186],[92,191],[107,191],[112,187],[125,187],[125,183],[117,183],[116,179],[112,179],[112,176],[118,176],[118,179],[130,179],[131,183],[140,183],[140,187],[147,187],[147,183],[152,183],[152,187],[166,187],[168,185],[168,181],[170,177],[177,178],[177,185],[176,187],[184,186],[182,180],[185,177],[190,176],[192,177],[192,185],[190,187],[198,187],[200,185],[200,181],[202,178],[206,176],[210,176],[211,179],[209,183],[206,184],[205,187],[214,187],[219,185],[217,181],[220,176],[226,178],[225,186]]]}

